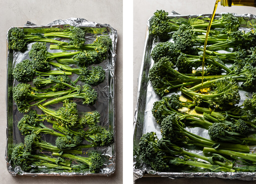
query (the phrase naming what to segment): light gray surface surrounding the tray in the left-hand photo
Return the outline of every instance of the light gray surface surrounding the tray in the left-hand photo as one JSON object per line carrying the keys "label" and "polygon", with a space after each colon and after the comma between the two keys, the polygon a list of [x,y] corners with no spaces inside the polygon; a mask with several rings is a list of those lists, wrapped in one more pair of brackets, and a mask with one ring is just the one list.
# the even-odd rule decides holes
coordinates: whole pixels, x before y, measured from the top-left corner
{"label": "light gray surface surrounding the tray in the left-hand photo", "polygon": [[[46,25],[57,19],[84,18],[100,24],[110,24],[117,30],[116,60],[116,171],[111,176],[16,176],[6,169],[6,32],[11,26],[23,26],[27,21]],[[122,183],[122,76],[123,76],[123,5],[120,0],[0,0],[0,183]]]}

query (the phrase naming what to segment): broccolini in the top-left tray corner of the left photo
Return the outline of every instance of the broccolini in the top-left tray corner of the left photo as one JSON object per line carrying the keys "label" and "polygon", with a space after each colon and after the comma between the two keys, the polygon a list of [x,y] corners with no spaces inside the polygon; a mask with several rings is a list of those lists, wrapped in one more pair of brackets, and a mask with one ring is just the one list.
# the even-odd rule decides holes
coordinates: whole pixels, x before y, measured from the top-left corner
{"label": "broccolini in the top-left tray corner of the left photo", "polygon": [[50,42],[55,44],[62,44],[67,45],[68,43],[48,39],[48,38],[42,38],[42,35],[26,35],[21,28],[12,28],[10,33],[8,34],[8,42],[9,42],[9,48],[15,50],[15,51],[21,51],[24,52],[27,50],[27,44],[30,42]]}

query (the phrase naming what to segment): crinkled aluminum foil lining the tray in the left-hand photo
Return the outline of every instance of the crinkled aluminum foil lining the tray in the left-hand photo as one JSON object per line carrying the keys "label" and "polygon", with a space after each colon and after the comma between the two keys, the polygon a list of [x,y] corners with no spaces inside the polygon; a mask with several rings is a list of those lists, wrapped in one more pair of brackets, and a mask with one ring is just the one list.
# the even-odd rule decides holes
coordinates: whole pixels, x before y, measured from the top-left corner
{"label": "crinkled aluminum foil lining the tray in the left-hand photo", "polygon": [[[99,125],[103,126],[106,130],[109,130],[111,133],[114,134],[114,142],[115,142],[115,63],[116,63],[116,42],[117,42],[117,31],[110,27],[108,24],[98,24],[96,22],[89,22],[82,18],[69,18],[67,20],[55,20],[49,23],[46,26],[38,26],[31,22],[27,22],[24,25],[23,29],[26,33],[40,33],[50,32],[52,27],[57,27],[60,30],[64,28],[69,28],[70,26],[76,26],[83,28],[86,33],[86,44],[92,43],[95,40],[95,36],[105,35],[109,36],[112,40],[112,49],[109,51],[109,57],[100,63],[99,65],[103,67],[106,73],[106,79],[103,83],[99,84],[98,86],[93,87],[98,93],[98,100],[93,106],[83,105],[80,99],[73,99],[74,102],[77,103],[78,113],[81,115],[84,112],[89,111],[98,111],[101,114],[101,122]],[[12,28],[12,27],[11,27]],[[10,28],[10,29],[11,29]],[[7,32],[7,42],[8,42],[8,33]],[[57,38],[60,41],[68,42],[69,40],[66,38]],[[34,43],[34,42],[33,42]],[[33,170],[31,169],[29,172],[24,172],[20,170],[17,166],[12,166],[9,160],[10,153],[12,146],[14,144],[18,144],[24,142],[24,136],[22,136],[17,128],[18,121],[23,117],[23,113],[18,112],[17,106],[12,99],[12,94],[9,90],[18,84],[16,80],[12,78],[12,68],[19,62],[23,61],[24,59],[29,59],[28,51],[31,48],[33,43],[28,44],[28,50],[24,53],[10,51],[7,48],[7,97],[6,97],[6,107],[7,107],[7,127],[6,127],[6,135],[7,135],[7,145],[6,145],[6,153],[5,159],[7,164],[7,170],[13,176],[16,175],[44,175],[44,176],[84,176],[84,175],[111,175],[115,171],[116,165],[116,147],[115,143],[111,146],[106,147],[95,147],[95,148],[88,148],[82,149],[84,156],[87,156],[88,150],[97,150],[102,153],[102,158],[104,165],[99,173],[91,173],[87,171],[79,171],[79,172],[55,172],[53,170]],[[48,48],[48,52],[63,52],[61,50],[50,50],[49,49],[50,43],[46,43]],[[72,52],[72,50],[70,50]],[[71,65],[75,66],[75,65]],[[94,66],[94,65],[92,65]],[[96,66],[96,65],[95,65]],[[52,70],[56,70],[56,68],[51,68]],[[89,66],[91,69],[91,66]],[[71,79],[74,80],[77,78],[76,74],[71,75]],[[9,92],[9,93],[8,93]],[[51,109],[58,109],[62,107],[62,103],[57,103],[51,105]],[[33,109],[33,108],[32,108]],[[34,108],[37,110],[38,114],[41,111],[38,108]],[[52,126],[50,123],[44,123],[49,128]],[[55,145],[56,137],[52,135],[45,135],[42,134],[42,140],[47,141],[53,145]],[[83,144],[90,144],[84,140]],[[44,152],[46,155],[50,154],[50,152]],[[82,155],[81,155],[82,156]],[[74,161],[73,161],[74,162]],[[74,162],[75,163],[75,162]]]}

